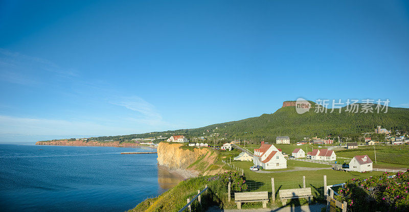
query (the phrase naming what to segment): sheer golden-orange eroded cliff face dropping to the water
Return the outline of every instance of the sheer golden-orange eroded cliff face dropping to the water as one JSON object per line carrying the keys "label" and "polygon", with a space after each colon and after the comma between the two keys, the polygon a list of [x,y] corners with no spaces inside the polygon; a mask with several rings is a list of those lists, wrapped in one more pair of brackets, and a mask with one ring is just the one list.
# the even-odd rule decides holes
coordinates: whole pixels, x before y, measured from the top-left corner
{"label": "sheer golden-orange eroded cliff face dropping to the water", "polygon": [[206,155],[208,149],[195,148],[184,150],[179,147],[183,144],[169,144],[162,142],[157,147],[157,163],[169,169],[187,169],[201,155]]}

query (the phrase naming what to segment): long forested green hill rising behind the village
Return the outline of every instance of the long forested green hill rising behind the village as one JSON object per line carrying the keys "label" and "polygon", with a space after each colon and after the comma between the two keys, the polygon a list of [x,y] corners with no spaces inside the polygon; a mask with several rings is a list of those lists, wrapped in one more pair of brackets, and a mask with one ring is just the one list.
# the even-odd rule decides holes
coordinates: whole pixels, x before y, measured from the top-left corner
{"label": "long forested green hill rising behind the village", "polygon": [[[375,108],[375,105],[373,108]],[[276,136],[290,136],[292,140],[313,136],[325,137],[328,135],[333,137],[338,135],[357,137],[361,136],[362,132],[374,132],[377,125],[381,125],[382,128],[388,130],[409,131],[408,108],[389,107],[387,113],[348,113],[345,112],[345,109],[342,108],[341,113],[339,113],[338,109],[335,109],[332,113],[329,113],[331,109],[328,109],[327,113],[315,113],[312,109],[309,112],[298,114],[295,106],[287,106],[271,114],[262,114],[258,117],[196,129],[103,136],[94,139],[130,140],[135,137],[146,138],[160,135],[169,137],[173,133],[192,138],[219,133],[219,136],[216,136],[218,139],[232,139],[236,137],[237,139],[260,140],[264,138],[268,142],[274,141]],[[214,137],[211,138],[213,139]]]}

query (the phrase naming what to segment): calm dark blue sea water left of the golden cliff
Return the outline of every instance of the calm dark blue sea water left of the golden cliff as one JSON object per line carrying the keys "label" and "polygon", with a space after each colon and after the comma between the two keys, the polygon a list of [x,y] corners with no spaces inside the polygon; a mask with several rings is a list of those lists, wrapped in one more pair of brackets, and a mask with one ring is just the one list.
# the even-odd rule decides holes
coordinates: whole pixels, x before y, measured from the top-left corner
{"label": "calm dark blue sea water left of the golden cliff", "polygon": [[125,211],[182,179],[150,148],[0,144],[0,211]]}

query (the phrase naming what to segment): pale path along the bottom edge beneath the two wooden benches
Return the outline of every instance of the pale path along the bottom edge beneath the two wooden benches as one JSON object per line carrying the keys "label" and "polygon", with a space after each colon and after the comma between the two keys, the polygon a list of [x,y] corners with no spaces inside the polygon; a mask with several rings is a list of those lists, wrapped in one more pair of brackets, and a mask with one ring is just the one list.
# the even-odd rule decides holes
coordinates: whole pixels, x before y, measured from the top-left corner
{"label": "pale path along the bottom edge beneath the two wooden benches", "polygon": [[208,212],[321,212],[321,208],[325,207],[323,204],[313,204],[304,206],[287,206],[279,208],[259,208],[259,209],[220,209],[216,206],[209,207]]}

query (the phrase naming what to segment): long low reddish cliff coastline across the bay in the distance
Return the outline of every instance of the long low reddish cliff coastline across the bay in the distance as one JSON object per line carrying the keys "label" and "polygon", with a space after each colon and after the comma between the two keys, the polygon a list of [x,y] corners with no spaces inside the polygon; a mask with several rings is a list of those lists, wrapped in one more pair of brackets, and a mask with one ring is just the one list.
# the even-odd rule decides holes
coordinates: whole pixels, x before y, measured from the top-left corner
{"label": "long low reddish cliff coastline across the bay in the distance", "polygon": [[[97,142],[88,140],[47,140],[36,142],[36,145],[52,145],[52,146],[91,146],[91,147],[148,147],[139,145],[137,143],[125,143],[125,142]],[[156,148],[156,147],[150,147]]]}

